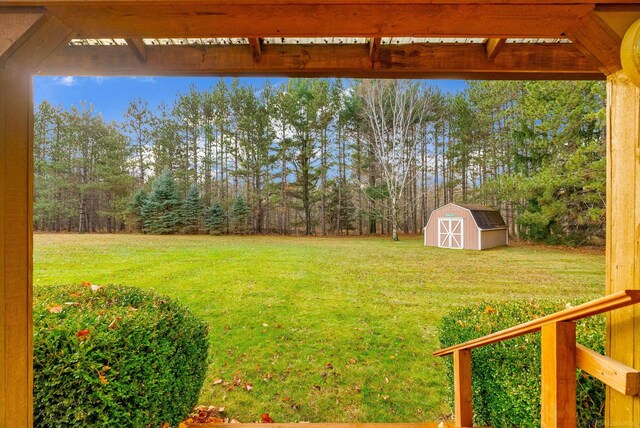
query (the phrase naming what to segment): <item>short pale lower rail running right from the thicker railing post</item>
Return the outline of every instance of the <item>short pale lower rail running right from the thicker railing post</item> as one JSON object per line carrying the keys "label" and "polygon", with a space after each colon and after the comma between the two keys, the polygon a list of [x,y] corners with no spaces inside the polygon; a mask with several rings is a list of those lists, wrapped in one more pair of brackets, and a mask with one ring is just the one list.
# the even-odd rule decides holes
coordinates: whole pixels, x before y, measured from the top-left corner
{"label": "short pale lower rail running right from the thicker railing post", "polygon": [[576,345],[576,366],[621,394],[640,393],[640,371],[582,345]]}

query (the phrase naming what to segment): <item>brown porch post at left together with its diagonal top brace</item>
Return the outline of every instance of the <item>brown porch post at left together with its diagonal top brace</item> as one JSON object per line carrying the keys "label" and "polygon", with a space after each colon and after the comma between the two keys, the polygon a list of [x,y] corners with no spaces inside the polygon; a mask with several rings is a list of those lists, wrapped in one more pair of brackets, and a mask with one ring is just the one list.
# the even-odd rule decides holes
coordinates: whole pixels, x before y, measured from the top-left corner
{"label": "brown porch post at left together with its diagonal top brace", "polygon": [[16,29],[0,45],[0,427],[23,428],[33,425],[31,76],[71,30],[2,8],[0,18]]}

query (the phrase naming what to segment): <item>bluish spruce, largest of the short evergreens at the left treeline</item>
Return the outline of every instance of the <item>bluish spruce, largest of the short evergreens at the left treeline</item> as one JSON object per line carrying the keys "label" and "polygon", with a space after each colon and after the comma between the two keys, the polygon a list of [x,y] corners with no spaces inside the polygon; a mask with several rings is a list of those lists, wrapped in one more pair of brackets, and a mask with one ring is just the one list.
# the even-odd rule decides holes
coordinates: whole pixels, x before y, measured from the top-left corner
{"label": "bluish spruce, largest of the short evergreens at the left treeline", "polygon": [[181,223],[182,201],[178,186],[169,171],[153,182],[153,188],[142,206],[142,223],[145,233],[176,233]]}

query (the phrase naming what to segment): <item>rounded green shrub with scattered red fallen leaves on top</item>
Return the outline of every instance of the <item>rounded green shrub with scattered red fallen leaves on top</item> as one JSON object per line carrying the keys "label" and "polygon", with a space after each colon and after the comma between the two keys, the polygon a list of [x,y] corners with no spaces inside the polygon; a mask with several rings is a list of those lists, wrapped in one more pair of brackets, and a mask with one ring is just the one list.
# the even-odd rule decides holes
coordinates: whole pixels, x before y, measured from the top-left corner
{"label": "rounded green shrub with scattered red fallen leaves on top", "polygon": [[196,404],[208,327],[134,287],[37,287],[34,422],[42,427],[156,427]]}

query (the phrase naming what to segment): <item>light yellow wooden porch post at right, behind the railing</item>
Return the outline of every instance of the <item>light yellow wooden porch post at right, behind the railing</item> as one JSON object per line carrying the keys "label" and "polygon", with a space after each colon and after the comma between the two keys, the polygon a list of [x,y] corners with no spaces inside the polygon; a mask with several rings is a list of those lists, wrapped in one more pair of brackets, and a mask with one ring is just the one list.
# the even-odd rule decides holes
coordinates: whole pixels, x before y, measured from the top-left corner
{"label": "light yellow wooden porch post at right, behind the railing", "polygon": [[[640,88],[607,77],[607,293],[640,289]],[[607,355],[640,369],[640,307],[607,318]],[[606,426],[640,425],[640,397],[607,388]]]}

